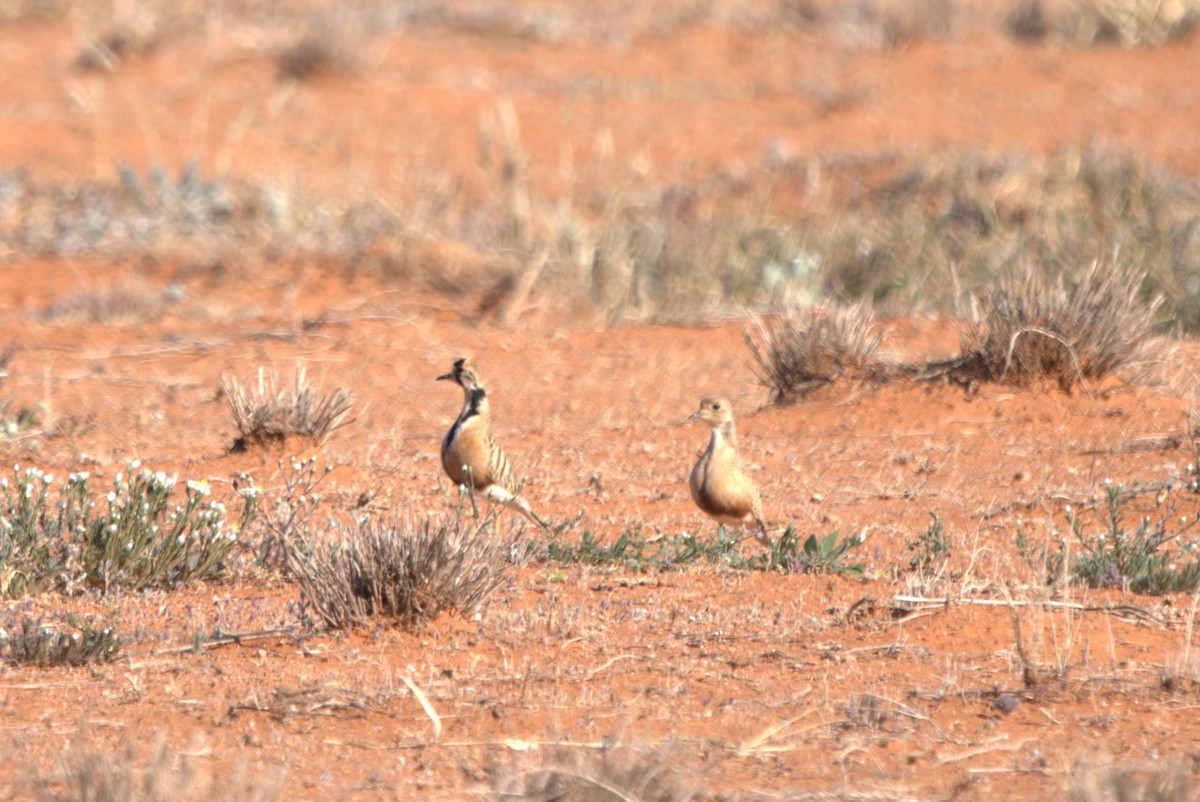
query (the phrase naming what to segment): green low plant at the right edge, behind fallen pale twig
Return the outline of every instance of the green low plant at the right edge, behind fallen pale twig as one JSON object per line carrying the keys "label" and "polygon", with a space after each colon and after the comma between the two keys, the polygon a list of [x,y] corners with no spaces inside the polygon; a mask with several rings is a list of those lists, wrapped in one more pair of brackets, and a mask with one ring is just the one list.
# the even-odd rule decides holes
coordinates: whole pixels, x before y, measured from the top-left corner
{"label": "green low plant at the right edge, behind fallen pale twig", "polygon": [[1193,516],[1142,516],[1135,527],[1126,523],[1132,493],[1106,483],[1103,498],[1093,498],[1090,531],[1072,507],[1066,516],[1070,539],[1057,537],[1046,547],[1030,543],[1018,526],[1016,547],[1027,564],[1044,571],[1048,583],[1072,581],[1086,587],[1126,588],[1134,593],[1170,593],[1200,587],[1200,543],[1184,534],[1200,522]]}

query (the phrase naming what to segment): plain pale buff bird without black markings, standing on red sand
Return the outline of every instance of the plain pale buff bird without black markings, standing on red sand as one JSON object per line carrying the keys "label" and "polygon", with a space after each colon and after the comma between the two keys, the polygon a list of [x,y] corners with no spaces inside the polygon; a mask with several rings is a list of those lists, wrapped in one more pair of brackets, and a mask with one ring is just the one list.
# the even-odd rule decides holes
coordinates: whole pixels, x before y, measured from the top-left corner
{"label": "plain pale buff bird without black markings, standing on red sand", "polygon": [[728,399],[709,396],[700,402],[700,408],[689,420],[703,420],[713,427],[708,449],[696,460],[688,481],[696,507],[724,526],[757,527],[755,538],[769,549],[762,498],[738,455],[733,405]]}

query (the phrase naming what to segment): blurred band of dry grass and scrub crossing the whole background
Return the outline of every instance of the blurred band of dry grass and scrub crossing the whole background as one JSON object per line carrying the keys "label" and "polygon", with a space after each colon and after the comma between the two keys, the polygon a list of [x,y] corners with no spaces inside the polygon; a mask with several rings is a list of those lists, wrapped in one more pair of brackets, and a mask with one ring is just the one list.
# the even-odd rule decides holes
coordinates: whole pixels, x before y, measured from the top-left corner
{"label": "blurred band of dry grass and scrub crossing the whole background", "polygon": [[[194,164],[178,179],[122,167],[119,182],[98,186],[41,186],[6,173],[0,245],[18,255],[145,253],[204,264],[336,259],[350,275],[373,271],[460,294],[469,273],[466,283],[480,288],[468,299],[475,313],[506,323],[539,293],[610,319],[694,319],[827,299],[962,313],[972,293],[986,297],[1013,265],[1038,265],[1078,286],[1082,265],[1103,257],[1105,271],[1141,276],[1140,298],[1165,299],[1152,323],[1174,316],[1184,330],[1200,327],[1200,190],[1134,157],[1088,150],[889,162],[876,172],[894,178],[851,194],[848,175],[839,174],[853,164],[834,164],[818,202],[785,222],[725,178],[654,187],[602,162],[586,166],[589,180],[545,196],[529,175],[516,113],[502,103],[493,116],[480,128],[481,188],[467,191],[462,176],[418,174],[412,197],[385,203],[229,185],[202,178]],[[806,180],[802,167],[764,164],[761,181],[790,186]],[[446,264],[431,256],[433,243],[470,256]],[[866,317],[845,316],[847,324],[859,316],[859,325]],[[874,333],[859,335],[869,348]]]}

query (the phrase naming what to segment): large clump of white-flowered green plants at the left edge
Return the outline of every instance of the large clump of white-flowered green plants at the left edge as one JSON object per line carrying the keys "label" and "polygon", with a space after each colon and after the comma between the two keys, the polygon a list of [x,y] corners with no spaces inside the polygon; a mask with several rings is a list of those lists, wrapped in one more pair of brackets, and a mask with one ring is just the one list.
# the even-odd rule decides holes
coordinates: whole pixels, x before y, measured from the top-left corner
{"label": "large clump of white-flowered green plants at the left edge", "polygon": [[113,489],[94,498],[91,477],[72,473],[52,503],[52,474],[13,467],[0,478],[0,595],[59,587],[174,586],[216,573],[258,510],[257,489],[239,490],[236,522],[208,481],[187,481],[131,462]]}

